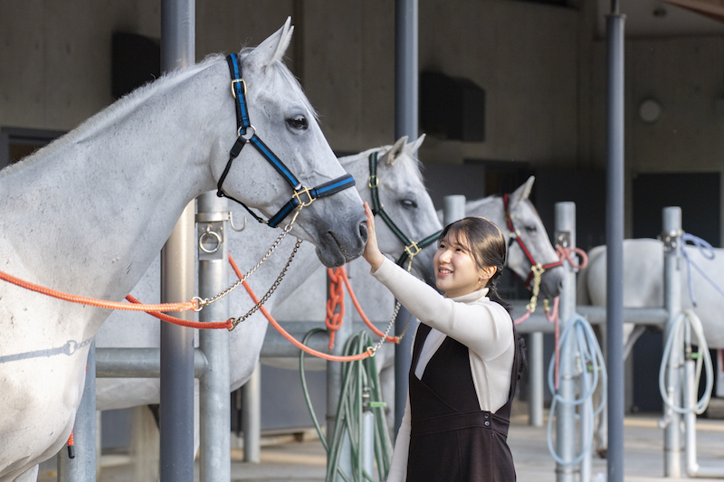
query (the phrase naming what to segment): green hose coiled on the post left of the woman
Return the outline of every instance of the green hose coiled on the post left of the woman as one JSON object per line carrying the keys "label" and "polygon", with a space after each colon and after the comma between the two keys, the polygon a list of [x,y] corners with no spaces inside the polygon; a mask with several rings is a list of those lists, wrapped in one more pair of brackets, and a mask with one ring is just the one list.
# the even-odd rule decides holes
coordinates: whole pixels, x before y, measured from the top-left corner
{"label": "green hose coiled on the post left of the woman", "polygon": [[[327,330],[323,328],[315,328],[307,333],[302,339],[302,343],[307,345],[310,338],[316,334],[322,333],[327,336]],[[344,354],[357,354],[373,345],[372,340],[366,332],[360,332],[356,335],[349,336],[344,346]],[[375,417],[375,459],[378,472],[378,480],[385,480],[389,472],[390,463],[392,462],[392,440],[390,432],[387,428],[385,418],[385,403],[382,402],[382,392],[377,376],[375,357],[370,356],[364,360],[348,362],[344,365],[342,374],[342,384],[339,394],[337,418],[335,419],[334,434],[329,442],[319,425],[317,415],[310,399],[310,392],[307,387],[307,379],[305,376],[304,352],[300,352],[300,378],[301,389],[304,392],[304,400],[310,411],[311,420],[314,428],[317,430],[319,440],[327,451],[327,482],[335,482],[337,475],[342,477],[346,482],[364,482],[373,481],[372,474],[367,473],[362,464],[362,445],[363,445],[363,414],[364,411],[371,410]],[[365,399],[368,399],[368,402]],[[366,407],[365,403],[369,403]],[[346,474],[339,467],[339,458],[342,454],[342,445],[348,436],[350,442],[351,457],[351,474]]]}

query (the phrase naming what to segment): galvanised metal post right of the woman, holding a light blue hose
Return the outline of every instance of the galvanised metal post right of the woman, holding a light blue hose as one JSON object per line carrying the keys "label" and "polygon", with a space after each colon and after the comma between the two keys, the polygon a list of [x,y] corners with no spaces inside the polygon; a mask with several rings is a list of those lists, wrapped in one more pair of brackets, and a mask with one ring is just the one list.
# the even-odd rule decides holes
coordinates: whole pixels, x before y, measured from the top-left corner
{"label": "galvanised metal post right of the woman, holding a light blue hose", "polygon": [[[566,240],[567,248],[576,247],[576,204],[556,203],[556,238]],[[564,262],[566,274],[563,278],[563,290],[560,294],[558,313],[561,331],[576,312],[576,273],[570,263]],[[564,400],[576,399],[576,355],[578,353],[575,336],[571,336],[560,354],[558,393]],[[556,451],[565,461],[576,458],[576,407],[568,403],[558,403],[556,415]],[[553,414],[551,414],[553,416]],[[557,482],[576,480],[576,468],[572,465],[556,464]]]}

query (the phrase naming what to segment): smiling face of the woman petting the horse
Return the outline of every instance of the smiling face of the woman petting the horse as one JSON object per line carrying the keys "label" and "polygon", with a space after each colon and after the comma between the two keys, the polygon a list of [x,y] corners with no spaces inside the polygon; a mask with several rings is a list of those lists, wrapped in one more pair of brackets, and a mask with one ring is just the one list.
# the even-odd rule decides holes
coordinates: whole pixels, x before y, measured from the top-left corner
{"label": "smiling face of the woman petting the horse", "polygon": [[484,286],[481,272],[472,253],[458,240],[445,236],[437,247],[433,258],[435,285],[445,292],[447,298],[456,298],[472,293]]}

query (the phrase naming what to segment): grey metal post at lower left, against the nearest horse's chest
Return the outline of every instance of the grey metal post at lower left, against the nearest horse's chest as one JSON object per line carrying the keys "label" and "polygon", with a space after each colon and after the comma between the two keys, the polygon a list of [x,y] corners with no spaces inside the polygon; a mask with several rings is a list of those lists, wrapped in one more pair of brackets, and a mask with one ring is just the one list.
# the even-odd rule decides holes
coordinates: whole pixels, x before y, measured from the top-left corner
{"label": "grey metal post at lower left, against the nearest horse's chest", "polygon": [[73,443],[75,458],[63,448],[58,452],[58,480],[84,482],[96,479],[96,342],[90,343],[81,405],[75,413]]}

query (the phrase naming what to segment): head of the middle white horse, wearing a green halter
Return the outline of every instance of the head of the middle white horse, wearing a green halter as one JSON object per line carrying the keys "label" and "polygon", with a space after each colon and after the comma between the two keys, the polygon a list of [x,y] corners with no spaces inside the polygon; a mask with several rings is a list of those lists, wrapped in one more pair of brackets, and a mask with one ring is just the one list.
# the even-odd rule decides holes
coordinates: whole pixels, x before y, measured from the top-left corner
{"label": "head of the middle white horse, wearing a green halter", "polygon": [[[376,212],[380,250],[396,253],[395,260],[405,269],[412,258],[415,275],[433,284],[434,250],[424,247],[436,245],[443,226],[415,157],[423,141],[424,135],[411,143],[407,143],[406,136],[400,137],[393,146],[370,149],[343,158],[342,163],[359,184],[366,180],[366,185],[357,184],[357,188],[364,199],[371,200],[370,206]],[[360,156],[369,162],[353,162]]]}

